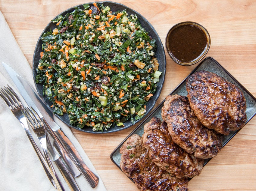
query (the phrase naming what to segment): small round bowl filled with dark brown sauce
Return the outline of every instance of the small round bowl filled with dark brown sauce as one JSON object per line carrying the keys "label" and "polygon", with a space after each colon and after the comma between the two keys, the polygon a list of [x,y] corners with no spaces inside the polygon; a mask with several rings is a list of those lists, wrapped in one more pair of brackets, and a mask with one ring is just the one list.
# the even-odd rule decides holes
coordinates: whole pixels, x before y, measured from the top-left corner
{"label": "small round bowl filled with dark brown sauce", "polygon": [[201,61],[208,52],[211,38],[208,31],[196,22],[180,22],[167,33],[165,46],[172,60],[183,66]]}

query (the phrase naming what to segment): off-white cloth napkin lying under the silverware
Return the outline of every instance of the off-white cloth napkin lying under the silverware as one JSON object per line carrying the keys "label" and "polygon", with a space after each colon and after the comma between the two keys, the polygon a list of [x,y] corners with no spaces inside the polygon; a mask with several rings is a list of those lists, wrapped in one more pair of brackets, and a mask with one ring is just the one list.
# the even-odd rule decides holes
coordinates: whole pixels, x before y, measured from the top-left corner
{"label": "off-white cloth napkin lying under the silverware", "polygon": [[[0,11],[0,86],[10,85],[21,98],[14,82],[2,66],[2,62],[10,65],[20,76],[34,85],[32,69]],[[23,101],[22,98],[21,101]],[[25,131],[1,97],[0,107],[0,190],[56,190],[46,176]],[[58,124],[80,153],[87,166],[98,175],[70,128],[60,121],[58,121]],[[59,177],[66,190],[69,190],[60,174]],[[76,178],[76,182],[82,191],[106,190],[100,177],[99,179],[99,184],[94,189],[89,186],[83,175]]]}

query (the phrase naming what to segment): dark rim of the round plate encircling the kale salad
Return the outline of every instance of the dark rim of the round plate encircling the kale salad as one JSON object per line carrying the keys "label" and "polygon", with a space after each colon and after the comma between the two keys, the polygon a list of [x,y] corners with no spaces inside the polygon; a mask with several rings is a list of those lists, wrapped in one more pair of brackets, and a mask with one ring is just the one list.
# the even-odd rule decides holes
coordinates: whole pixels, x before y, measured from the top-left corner
{"label": "dark rim of the round plate encircling the kale salad", "polygon": [[[83,3],[83,4],[78,4],[78,5],[76,5],[76,6],[73,6],[73,7],[70,7],[70,8],[68,8],[68,9],[66,9],[66,10],[64,10],[64,11],[62,11],[61,13],[59,13],[58,15],[56,15],[53,19],[55,19],[55,18],[57,18],[59,15],[66,15],[67,13],[70,13],[70,12],[72,12],[73,10],[75,10],[75,8],[76,7],[83,7],[83,5],[84,4],[90,4],[90,5],[92,5],[94,2],[92,1],[92,2],[87,2],[87,3]],[[39,38],[38,38],[38,40],[37,40],[37,42],[36,42],[36,47],[35,47],[35,49],[34,49],[34,53],[33,53],[33,63],[32,63],[32,72],[33,72],[33,81],[34,81],[34,84],[35,84],[35,86],[36,86],[36,91],[37,91],[37,93],[39,94],[39,96],[42,98],[42,101],[43,101],[43,103],[47,106],[47,108],[48,109],[50,109],[50,111],[51,112],[53,112],[53,114],[54,114],[54,116],[55,117],[57,117],[59,120],[61,120],[64,124],[66,124],[68,127],[71,127],[71,128],[74,128],[74,129],[76,129],[76,130],[79,130],[79,131],[82,131],[82,132],[85,132],[85,133],[92,133],[92,134],[105,134],[105,133],[114,133],[114,132],[118,132],[118,131],[121,131],[121,130],[124,130],[124,129],[127,129],[127,128],[130,128],[130,127],[132,127],[133,125],[135,125],[135,124],[137,124],[137,123],[139,123],[140,121],[142,121],[147,115],[149,115],[150,113],[151,113],[151,111],[152,111],[152,109],[154,108],[154,106],[155,106],[155,104],[156,104],[156,102],[157,102],[157,100],[158,100],[158,98],[159,98],[159,96],[160,96],[160,94],[161,94],[161,91],[162,91],[162,88],[163,88],[163,84],[164,84],[164,80],[165,80],[165,75],[166,75],[166,55],[165,55],[165,50],[164,50],[164,45],[163,45],[163,43],[162,43],[162,40],[161,40],[161,38],[159,37],[159,35],[158,35],[158,33],[157,33],[157,31],[155,30],[155,28],[153,27],[153,25],[150,23],[150,22],[148,22],[148,20],[142,15],[142,14],[140,14],[139,12],[137,12],[136,10],[133,10],[132,8],[130,8],[130,7],[128,7],[128,6],[126,6],[126,5],[124,5],[124,4],[121,4],[121,3],[117,3],[117,2],[113,2],[113,1],[97,1],[97,3],[99,3],[99,4],[112,4],[112,5],[117,5],[117,6],[121,6],[122,8],[122,10],[124,10],[124,9],[128,9],[129,11],[131,11],[131,12],[134,12],[139,18],[140,18],[140,20],[139,20],[139,18],[138,18],[138,20],[139,20],[139,22],[140,23],[142,23],[142,21],[144,21],[144,22],[146,22],[147,23],[147,25],[149,26],[149,28],[150,28],[150,30],[151,31],[148,31],[148,33],[153,33],[155,36],[156,36],[156,38],[157,38],[157,40],[158,40],[158,42],[159,42],[159,44],[158,44],[158,47],[159,47],[159,45],[160,45],[160,47],[159,47],[159,49],[161,49],[160,51],[159,51],[159,53],[161,54],[161,56],[163,57],[162,59],[163,59],[163,71],[161,71],[162,72],[162,74],[161,74],[161,76],[160,76],[160,82],[158,82],[158,89],[157,89],[157,91],[155,92],[155,94],[154,95],[156,95],[156,97],[155,97],[155,99],[154,100],[152,100],[152,103],[150,104],[150,105],[147,105],[147,107],[149,108],[148,109],[148,111],[145,113],[145,115],[142,117],[142,118],[140,118],[140,119],[138,119],[138,120],[136,120],[135,121],[135,123],[134,124],[128,124],[128,125],[126,125],[126,126],[124,126],[124,127],[121,127],[121,128],[117,128],[117,126],[115,126],[115,127],[111,127],[111,128],[109,128],[107,131],[106,130],[103,130],[103,131],[92,131],[92,128],[91,127],[84,127],[84,128],[82,128],[82,129],[80,129],[80,128],[78,128],[78,127],[76,127],[76,126],[72,126],[72,125],[70,125],[69,123],[67,123],[67,121],[64,121],[63,120],[63,118],[62,118],[62,116],[60,116],[60,115],[58,115],[58,114],[56,114],[56,113],[54,113],[53,111],[52,111],[52,108],[50,108],[50,106],[49,106],[49,104],[47,103],[47,101],[45,100],[46,99],[46,96],[42,96],[40,93],[39,93],[39,86],[41,85],[42,86],[42,84],[37,84],[36,82],[35,82],[35,78],[36,78],[36,67],[37,67],[37,65],[36,65],[36,63],[35,63],[35,59],[36,59],[36,56],[38,56],[38,53],[36,52],[36,50],[38,49],[38,46],[40,45],[40,42],[41,42],[41,37],[42,37],[42,34],[46,31],[46,30],[49,30],[49,27],[50,27],[50,25],[52,24],[52,20],[45,26],[45,28],[43,29],[43,31],[42,31],[42,33],[40,34],[40,36],[39,36]],[[120,9],[120,10],[121,10]],[[142,26],[143,28],[144,28],[144,26]],[[148,102],[147,102],[148,103]],[[130,122],[130,121],[129,121]]]}

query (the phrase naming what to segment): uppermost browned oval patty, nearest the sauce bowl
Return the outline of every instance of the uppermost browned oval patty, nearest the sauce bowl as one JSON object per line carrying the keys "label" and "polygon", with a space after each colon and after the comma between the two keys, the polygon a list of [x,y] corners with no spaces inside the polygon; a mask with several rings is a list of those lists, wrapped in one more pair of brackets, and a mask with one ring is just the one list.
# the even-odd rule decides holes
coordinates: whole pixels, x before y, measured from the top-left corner
{"label": "uppermost browned oval patty, nearest the sauce bowl", "polygon": [[186,89],[190,106],[205,127],[228,135],[245,125],[245,97],[223,77],[198,71],[187,78]]}

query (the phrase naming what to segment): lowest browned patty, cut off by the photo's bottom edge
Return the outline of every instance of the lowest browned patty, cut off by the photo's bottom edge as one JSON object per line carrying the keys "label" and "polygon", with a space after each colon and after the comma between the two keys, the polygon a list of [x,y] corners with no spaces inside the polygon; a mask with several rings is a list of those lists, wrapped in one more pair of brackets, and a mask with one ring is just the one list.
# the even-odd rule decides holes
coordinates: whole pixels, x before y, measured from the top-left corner
{"label": "lowest browned patty, cut off by the photo's bottom edge", "polygon": [[132,178],[139,190],[188,191],[188,180],[178,179],[161,170],[149,158],[139,135],[130,136],[120,148],[120,167]]}

